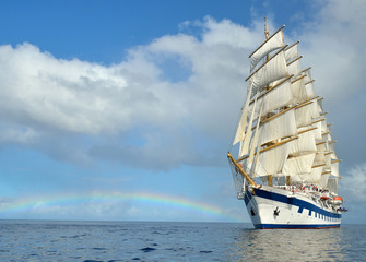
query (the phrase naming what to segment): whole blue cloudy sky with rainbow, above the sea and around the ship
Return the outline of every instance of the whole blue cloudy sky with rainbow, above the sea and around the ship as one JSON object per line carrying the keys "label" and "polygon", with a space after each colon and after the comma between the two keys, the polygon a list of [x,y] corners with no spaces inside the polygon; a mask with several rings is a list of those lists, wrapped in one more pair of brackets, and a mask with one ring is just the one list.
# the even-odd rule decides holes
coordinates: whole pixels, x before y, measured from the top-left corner
{"label": "whole blue cloudy sky with rainbow, above the sea and around the ship", "polygon": [[250,55],[282,25],[312,67],[366,215],[365,1],[0,2],[0,219],[249,223],[226,153]]}

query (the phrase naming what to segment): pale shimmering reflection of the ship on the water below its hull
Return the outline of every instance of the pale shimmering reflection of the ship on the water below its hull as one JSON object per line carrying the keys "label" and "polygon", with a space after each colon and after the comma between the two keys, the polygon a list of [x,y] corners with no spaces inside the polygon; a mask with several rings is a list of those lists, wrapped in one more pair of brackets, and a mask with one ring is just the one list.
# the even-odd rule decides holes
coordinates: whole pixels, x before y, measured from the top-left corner
{"label": "pale shimmering reflection of the ship on the water below its hull", "polygon": [[243,229],[231,250],[231,261],[343,261],[350,248],[342,228]]}

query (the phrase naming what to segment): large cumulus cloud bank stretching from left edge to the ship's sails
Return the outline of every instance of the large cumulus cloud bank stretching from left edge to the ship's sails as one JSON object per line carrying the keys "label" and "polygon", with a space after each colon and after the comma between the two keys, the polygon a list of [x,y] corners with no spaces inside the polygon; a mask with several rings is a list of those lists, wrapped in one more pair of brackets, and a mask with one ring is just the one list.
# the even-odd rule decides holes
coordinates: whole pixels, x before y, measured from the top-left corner
{"label": "large cumulus cloud bank stretching from left edge to the ship's sails", "polygon": [[[228,143],[244,98],[243,61],[259,34],[210,17],[190,26],[200,37],[163,36],[111,66],[58,59],[27,43],[1,46],[1,142],[153,169],[217,163],[211,143]],[[165,78],[174,68],[186,78]],[[82,135],[87,143],[74,151]]]}

